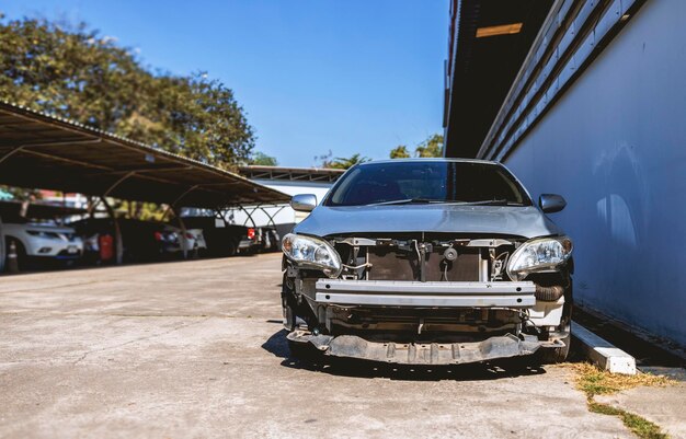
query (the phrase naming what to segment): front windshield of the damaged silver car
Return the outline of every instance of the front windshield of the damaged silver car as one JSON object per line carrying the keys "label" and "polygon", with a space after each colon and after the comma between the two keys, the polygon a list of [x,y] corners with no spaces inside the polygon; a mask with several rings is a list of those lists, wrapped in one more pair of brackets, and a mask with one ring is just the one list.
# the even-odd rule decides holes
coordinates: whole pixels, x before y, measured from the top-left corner
{"label": "front windshield of the damaged silver car", "polygon": [[367,163],[346,173],[331,189],[327,206],[403,204],[530,206],[503,166],[451,161]]}

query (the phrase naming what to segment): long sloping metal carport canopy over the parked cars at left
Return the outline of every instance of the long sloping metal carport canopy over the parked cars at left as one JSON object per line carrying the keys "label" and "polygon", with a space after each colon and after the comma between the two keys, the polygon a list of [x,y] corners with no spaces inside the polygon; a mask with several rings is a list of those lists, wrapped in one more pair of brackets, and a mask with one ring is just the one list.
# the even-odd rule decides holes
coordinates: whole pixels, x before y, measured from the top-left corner
{"label": "long sloping metal carport canopy over the parked cars at left", "polygon": [[235,173],[4,101],[0,184],[211,209],[290,198]]}

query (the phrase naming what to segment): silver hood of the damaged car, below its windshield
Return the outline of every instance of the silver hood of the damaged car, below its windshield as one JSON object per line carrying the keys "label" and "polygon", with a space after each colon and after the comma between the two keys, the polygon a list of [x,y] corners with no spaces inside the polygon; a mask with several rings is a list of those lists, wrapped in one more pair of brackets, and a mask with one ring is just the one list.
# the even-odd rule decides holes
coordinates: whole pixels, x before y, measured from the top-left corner
{"label": "silver hood of the damaged car, below its windshield", "polygon": [[441,232],[535,238],[562,233],[533,206],[465,205],[318,206],[294,231],[315,236]]}

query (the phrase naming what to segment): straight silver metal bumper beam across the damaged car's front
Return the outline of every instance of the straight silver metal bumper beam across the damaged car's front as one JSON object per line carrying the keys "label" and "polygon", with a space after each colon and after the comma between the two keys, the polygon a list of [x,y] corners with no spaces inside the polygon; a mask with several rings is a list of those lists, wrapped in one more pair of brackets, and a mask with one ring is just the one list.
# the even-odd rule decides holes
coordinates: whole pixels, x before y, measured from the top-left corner
{"label": "straight silver metal bumper beam across the damaged car's front", "polygon": [[536,304],[536,285],[521,282],[447,282],[319,279],[316,301],[377,307],[507,307]]}

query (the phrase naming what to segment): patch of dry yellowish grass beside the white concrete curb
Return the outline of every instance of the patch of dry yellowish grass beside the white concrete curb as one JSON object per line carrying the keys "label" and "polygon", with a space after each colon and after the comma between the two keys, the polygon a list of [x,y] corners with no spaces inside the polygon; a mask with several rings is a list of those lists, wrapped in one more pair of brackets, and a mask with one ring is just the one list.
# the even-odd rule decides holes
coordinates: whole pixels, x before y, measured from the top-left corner
{"label": "patch of dry yellowish grass beside the white concrete curb", "polygon": [[576,389],[586,394],[591,412],[618,416],[624,425],[641,439],[668,439],[670,436],[662,432],[660,426],[650,420],[633,413],[613,407],[609,404],[597,403],[593,401],[593,397],[595,395],[610,395],[640,385],[663,388],[672,385],[676,381],[666,377],[641,372],[634,376],[609,373],[590,363],[574,363],[570,365],[570,367],[576,372]]}

